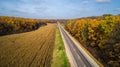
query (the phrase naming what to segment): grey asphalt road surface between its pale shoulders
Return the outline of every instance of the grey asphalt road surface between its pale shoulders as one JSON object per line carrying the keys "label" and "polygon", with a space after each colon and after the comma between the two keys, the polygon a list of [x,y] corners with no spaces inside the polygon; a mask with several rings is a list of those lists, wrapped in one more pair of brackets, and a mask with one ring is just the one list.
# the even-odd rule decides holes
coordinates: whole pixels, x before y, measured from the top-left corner
{"label": "grey asphalt road surface between its pale shoulders", "polygon": [[72,53],[74,58],[74,62],[76,63],[76,67],[92,67],[92,65],[87,61],[87,59],[80,52],[79,48],[75,45],[75,43],[71,40],[71,38],[66,34],[60,24],[58,24],[61,33],[63,34],[64,39]]}

